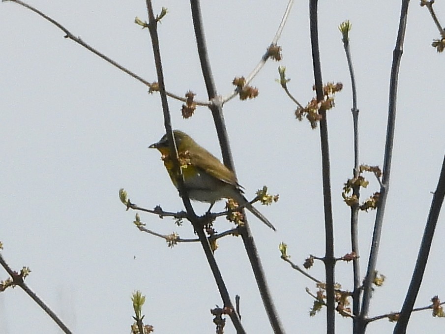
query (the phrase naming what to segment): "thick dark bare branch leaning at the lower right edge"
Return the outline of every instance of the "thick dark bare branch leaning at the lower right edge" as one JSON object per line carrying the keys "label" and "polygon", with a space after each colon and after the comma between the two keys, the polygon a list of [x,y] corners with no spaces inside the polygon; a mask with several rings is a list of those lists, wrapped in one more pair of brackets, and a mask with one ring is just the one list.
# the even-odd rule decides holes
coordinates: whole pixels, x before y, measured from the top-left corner
{"label": "thick dark bare branch leaning at the lower right edge", "polygon": [[417,261],[415,262],[415,269],[411,278],[411,283],[408,288],[408,293],[403,303],[402,310],[397,324],[394,327],[393,334],[404,334],[410,320],[411,312],[413,311],[415,299],[422,283],[423,274],[425,273],[426,263],[428,262],[428,255],[433,242],[434,230],[436,229],[439,213],[441,212],[442,204],[445,197],[445,156],[442,163],[441,174],[434,192],[433,201],[431,202],[430,213],[423,232],[422,243],[420,244]]}

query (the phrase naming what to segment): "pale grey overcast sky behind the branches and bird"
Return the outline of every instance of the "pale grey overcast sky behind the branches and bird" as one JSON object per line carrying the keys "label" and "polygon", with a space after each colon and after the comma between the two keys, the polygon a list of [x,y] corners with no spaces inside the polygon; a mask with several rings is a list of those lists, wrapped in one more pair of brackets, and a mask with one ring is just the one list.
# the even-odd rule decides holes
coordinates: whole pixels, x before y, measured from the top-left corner
{"label": "pale grey overcast sky behind the branches and bird", "polygon": [[[233,90],[235,76],[247,75],[272,40],[287,1],[202,1],[208,52],[219,94]],[[401,1],[320,1],[319,28],[323,80],[342,82],[336,107],[328,112],[335,252],[350,252],[350,210],[341,189],[352,175],[351,85],[337,26],[351,20],[351,51],[360,109],[360,162],[383,164],[389,73]],[[97,50],[156,81],[145,1],[31,2]],[[188,90],[205,100],[188,1],[155,1],[169,14],[159,25],[161,54],[169,91]],[[437,1],[439,19],[445,4]],[[278,78],[287,66],[290,90],[306,104],[312,96],[308,1],[296,1],[279,45],[283,61],[270,61],[254,80],[257,99],[234,99],[224,107],[239,182],[253,198],[267,184],[280,201],[259,208],[278,231],[249,215],[270,289],[287,333],[324,333],[326,313],[310,318],[311,281],[280,259],[278,244],[289,245],[291,259],[302,264],[309,254],[324,254],[319,131],[298,122],[295,105]],[[442,23],[443,23],[442,22]],[[164,133],[158,94],[63,38],[63,32],[29,10],[0,6],[0,240],[10,266],[32,270],[27,283],[74,333],[129,333],[135,289],[147,296],[145,320],[155,333],[214,333],[210,308],[222,306],[201,246],[165,241],[139,232],[134,212],[125,212],[119,188],[140,206],[161,204],[179,211],[182,203],[158,152],[149,144]],[[377,269],[386,275],[371,301],[370,315],[401,308],[417,248],[444,158],[442,95],[444,55],[431,47],[439,33],[428,10],[412,1],[399,76],[397,124],[391,185]],[[183,120],[181,103],[170,99],[174,127],[220,156],[210,112],[198,108]],[[369,190],[378,189],[368,175]],[[205,212],[207,206],[195,206]],[[223,204],[215,206],[222,210]],[[375,212],[360,215],[362,276],[366,270]],[[147,227],[193,237],[190,224],[141,214]],[[444,214],[416,306],[434,295],[445,300]],[[216,223],[231,227],[224,218]],[[242,323],[248,333],[271,333],[250,264],[239,238],[219,242],[216,259],[229,291],[241,296]],[[316,263],[310,273],[323,279]],[[0,279],[7,274],[0,271]],[[336,281],[352,288],[352,264],[338,263]],[[352,322],[336,318],[338,333]],[[370,334],[391,333],[380,320]],[[58,327],[20,289],[0,294],[0,333],[59,333]],[[444,333],[445,320],[430,311],[413,314],[408,333]],[[235,333],[228,321],[226,333]]]}

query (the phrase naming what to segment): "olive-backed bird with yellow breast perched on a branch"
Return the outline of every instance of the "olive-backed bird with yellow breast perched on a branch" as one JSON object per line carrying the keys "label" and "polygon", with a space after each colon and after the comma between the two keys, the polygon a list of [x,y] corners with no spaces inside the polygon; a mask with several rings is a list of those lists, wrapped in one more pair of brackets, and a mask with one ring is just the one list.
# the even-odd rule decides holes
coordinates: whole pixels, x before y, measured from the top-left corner
{"label": "olive-backed bird with yellow breast perched on a branch", "polygon": [[[178,148],[179,163],[182,168],[184,185],[190,199],[210,203],[210,209],[216,201],[222,198],[232,198],[238,205],[244,206],[272,230],[275,227],[267,218],[255,209],[244,197],[242,187],[238,184],[235,173],[227,168],[217,157],[199,146],[186,133],[174,130],[175,142]],[[173,168],[169,158],[170,148],[167,134],[148,148],[157,149],[162,154],[165,168],[173,184],[178,188]],[[209,210],[210,210],[209,209]]]}

